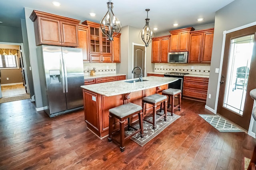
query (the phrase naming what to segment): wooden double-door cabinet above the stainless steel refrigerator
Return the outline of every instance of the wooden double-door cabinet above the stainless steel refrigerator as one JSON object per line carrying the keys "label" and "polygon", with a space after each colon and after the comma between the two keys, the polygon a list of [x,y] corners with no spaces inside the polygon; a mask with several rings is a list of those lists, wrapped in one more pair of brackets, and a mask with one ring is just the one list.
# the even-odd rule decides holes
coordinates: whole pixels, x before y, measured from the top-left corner
{"label": "wooden double-door cabinet above the stainless steel refrigerator", "polygon": [[36,10],[32,12],[30,19],[34,22],[36,45],[78,46],[80,20]]}

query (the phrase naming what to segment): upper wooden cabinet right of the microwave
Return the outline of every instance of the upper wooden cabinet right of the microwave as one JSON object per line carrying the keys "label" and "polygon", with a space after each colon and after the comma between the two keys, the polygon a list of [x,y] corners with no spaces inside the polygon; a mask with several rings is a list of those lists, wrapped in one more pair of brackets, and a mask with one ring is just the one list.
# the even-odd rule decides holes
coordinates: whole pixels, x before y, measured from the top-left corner
{"label": "upper wooden cabinet right of the microwave", "polygon": [[190,32],[188,63],[211,63],[214,28]]}

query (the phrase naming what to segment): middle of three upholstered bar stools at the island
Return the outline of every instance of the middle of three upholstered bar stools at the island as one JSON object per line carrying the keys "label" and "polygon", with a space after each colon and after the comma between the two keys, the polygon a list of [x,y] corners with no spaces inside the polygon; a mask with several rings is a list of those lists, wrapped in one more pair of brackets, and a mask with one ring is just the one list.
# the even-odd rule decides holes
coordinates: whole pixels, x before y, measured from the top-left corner
{"label": "middle of three upholstered bar stools at the island", "polygon": [[[153,121],[148,121],[146,119],[147,115],[149,113],[146,114],[146,103],[149,103],[152,105],[153,107]],[[164,103],[164,114],[163,115],[160,115],[160,114],[157,114],[156,113],[156,107],[161,104]],[[143,106],[143,120],[148,122],[148,123],[151,123],[153,125],[153,129],[155,129],[156,127],[156,121],[158,121],[159,119],[161,119],[162,117],[164,117],[164,121],[166,121],[167,119],[167,97],[165,95],[159,95],[159,94],[153,94],[153,95],[150,95],[150,96],[147,96],[147,97],[143,97],[142,98],[142,106]],[[161,108],[160,108],[161,110]],[[159,115],[160,117],[156,118],[156,115]]]}

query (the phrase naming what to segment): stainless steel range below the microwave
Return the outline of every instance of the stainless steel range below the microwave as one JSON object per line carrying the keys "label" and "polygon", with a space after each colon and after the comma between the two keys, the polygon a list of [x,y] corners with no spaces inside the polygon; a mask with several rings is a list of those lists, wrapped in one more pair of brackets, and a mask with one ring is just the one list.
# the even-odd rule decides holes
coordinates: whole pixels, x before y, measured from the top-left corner
{"label": "stainless steel range below the microwave", "polygon": [[180,89],[182,93],[182,87],[183,87],[183,76],[188,73],[175,73],[175,72],[170,72],[170,73],[165,73],[164,77],[173,77],[173,78],[178,78],[178,81],[174,81],[172,83],[169,83],[168,88],[172,89]]}

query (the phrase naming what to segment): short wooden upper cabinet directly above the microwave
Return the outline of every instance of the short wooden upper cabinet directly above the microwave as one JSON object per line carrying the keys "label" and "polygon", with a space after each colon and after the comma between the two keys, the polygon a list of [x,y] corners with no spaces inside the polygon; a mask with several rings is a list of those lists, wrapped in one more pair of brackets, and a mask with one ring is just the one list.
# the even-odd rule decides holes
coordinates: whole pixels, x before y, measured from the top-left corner
{"label": "short wooden upper cabinet directly above the microwave", "polygon": [[170,52],[188,51],[190,31],[193,27],[170,31]]}

